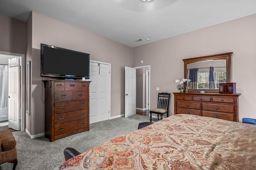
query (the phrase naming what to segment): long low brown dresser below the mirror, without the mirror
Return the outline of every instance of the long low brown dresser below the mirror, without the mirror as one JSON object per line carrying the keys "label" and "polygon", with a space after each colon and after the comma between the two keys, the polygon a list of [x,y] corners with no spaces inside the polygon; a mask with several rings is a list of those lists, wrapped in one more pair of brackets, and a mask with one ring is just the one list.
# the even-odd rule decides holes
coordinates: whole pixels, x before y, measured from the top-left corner
{"label": "long low brown dresser below the mirror, without the mirror", "polygon": [[239,121],[240,94],[173,93],[174,114],[192,114],[229,121]]}

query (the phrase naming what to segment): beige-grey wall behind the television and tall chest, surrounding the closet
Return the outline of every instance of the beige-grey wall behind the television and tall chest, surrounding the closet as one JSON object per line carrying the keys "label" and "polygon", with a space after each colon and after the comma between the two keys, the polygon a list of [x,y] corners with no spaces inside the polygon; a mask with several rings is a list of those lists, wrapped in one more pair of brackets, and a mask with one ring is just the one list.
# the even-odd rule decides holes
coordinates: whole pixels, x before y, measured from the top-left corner
{"label": "beige-grey wall behind the television and tall chest, surrounding the closet", "polygon": [[132,67],[133,49],[36,12],[32,12],[30,20],[32,44],[28,45],[28,51],[31,51],[28,57],[31,59],[32,96],[31,117],[27,120],[31,122],[31,135],[44,132],[40,43],[89,53],[91,60],[111,63],[111,117],[124,114],[124,66]]}

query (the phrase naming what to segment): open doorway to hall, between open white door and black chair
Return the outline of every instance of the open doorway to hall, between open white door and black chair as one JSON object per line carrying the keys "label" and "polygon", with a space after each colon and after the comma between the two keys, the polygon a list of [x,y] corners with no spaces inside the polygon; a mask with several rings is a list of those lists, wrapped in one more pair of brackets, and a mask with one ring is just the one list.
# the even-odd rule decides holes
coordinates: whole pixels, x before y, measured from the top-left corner
{"label": "open doorway to hall, between open white door and black chair", "polygon": [[148,116],[150,108],[150,66],[136,69],[136,114]]}

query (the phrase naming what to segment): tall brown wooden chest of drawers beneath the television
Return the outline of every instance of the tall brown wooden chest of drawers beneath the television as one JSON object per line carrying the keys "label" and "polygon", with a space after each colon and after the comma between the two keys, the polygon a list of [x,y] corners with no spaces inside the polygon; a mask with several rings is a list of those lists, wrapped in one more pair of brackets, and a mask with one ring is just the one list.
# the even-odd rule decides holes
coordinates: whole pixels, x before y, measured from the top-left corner
{"label": "tall brown wooden chest of drawers beneath the television", "polygon": [[45,87],[45,137],[56,141],[89,131],[90,81],[43,80]]}

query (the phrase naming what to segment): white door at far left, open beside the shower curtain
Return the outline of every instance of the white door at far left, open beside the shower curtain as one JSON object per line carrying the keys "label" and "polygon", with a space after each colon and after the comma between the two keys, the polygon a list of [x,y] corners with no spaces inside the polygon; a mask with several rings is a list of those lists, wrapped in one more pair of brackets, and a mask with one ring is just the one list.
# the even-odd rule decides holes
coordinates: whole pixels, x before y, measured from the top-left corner
{"label": "white door at far left, open beside the shower curtain", "polygon": [[20,131],[20,57],[8,59],[8,127]]}

